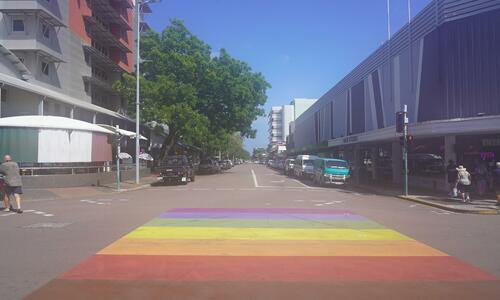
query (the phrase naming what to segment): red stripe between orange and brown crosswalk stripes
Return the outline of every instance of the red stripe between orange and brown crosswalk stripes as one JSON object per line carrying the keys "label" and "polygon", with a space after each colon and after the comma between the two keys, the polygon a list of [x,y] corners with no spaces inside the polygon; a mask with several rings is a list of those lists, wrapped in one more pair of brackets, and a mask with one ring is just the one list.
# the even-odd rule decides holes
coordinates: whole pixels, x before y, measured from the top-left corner
{"label": "red stripe between orange and brown crosswalk stripes", "polygon": [[169,281],[494,280],[453,257],[95,255],[64,279]]}

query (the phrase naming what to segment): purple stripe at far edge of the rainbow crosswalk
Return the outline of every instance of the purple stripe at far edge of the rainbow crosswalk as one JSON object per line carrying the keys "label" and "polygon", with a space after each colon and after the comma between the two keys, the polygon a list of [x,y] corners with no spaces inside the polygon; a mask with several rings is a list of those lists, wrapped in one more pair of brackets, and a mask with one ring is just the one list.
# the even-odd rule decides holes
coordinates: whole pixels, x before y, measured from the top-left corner
{"label": "purple stripe at far edge of the rainbow crosswalk", "polygon": [[173,208],[175,213],[352,214],[335,208]]}

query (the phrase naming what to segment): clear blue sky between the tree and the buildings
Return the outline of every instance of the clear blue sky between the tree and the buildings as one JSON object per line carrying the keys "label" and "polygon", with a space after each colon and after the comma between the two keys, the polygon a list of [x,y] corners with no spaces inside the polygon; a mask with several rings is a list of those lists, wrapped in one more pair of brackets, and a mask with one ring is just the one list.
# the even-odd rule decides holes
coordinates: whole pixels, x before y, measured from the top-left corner
{"label": "clear blue sky between the tree and the buildings", "polygon": [[[430,0],[411,0],[417,14]],[[408,20],[408,0],[390,0],[391,32]],[[147,16],[157,31],[178,18],[208,43],[264,74],[266,112],[292,98],[319,98],[387,39],[386,0],[163,0]],[[267,146],[267,119],[254,122]]]}

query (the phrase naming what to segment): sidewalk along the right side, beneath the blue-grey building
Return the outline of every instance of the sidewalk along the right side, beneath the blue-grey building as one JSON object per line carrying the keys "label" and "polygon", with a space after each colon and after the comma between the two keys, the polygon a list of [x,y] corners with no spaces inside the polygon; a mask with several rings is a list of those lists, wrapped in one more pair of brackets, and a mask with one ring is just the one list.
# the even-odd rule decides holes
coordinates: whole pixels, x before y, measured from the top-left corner
{"label": "sidewalk along the right side, beneath the blue-grey building", "polygon": [[472,203],[463,203],[461,199],[422,189],[411,188],[410,195],[404,196],[401,193],[401,187],[392,185],[359,184],[354,186],[374,194],[398,197],[400,199],[457,213],[498,215],[500,209],[499,206],[496,206],[497,200],[493,198],[478,200],[474,200],[473,198]]}

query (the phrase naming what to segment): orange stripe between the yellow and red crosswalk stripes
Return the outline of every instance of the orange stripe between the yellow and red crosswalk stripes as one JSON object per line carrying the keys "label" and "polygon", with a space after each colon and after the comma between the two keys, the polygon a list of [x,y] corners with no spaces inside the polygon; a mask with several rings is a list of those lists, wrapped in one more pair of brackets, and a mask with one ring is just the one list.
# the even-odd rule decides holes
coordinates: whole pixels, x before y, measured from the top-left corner
{"label": "orange stripe between the yellow and red crosswalk stripes", "polygon": [[122,238],[101,250],[107,255],[194,256],[447,256],[414,240],[276,241]]}

